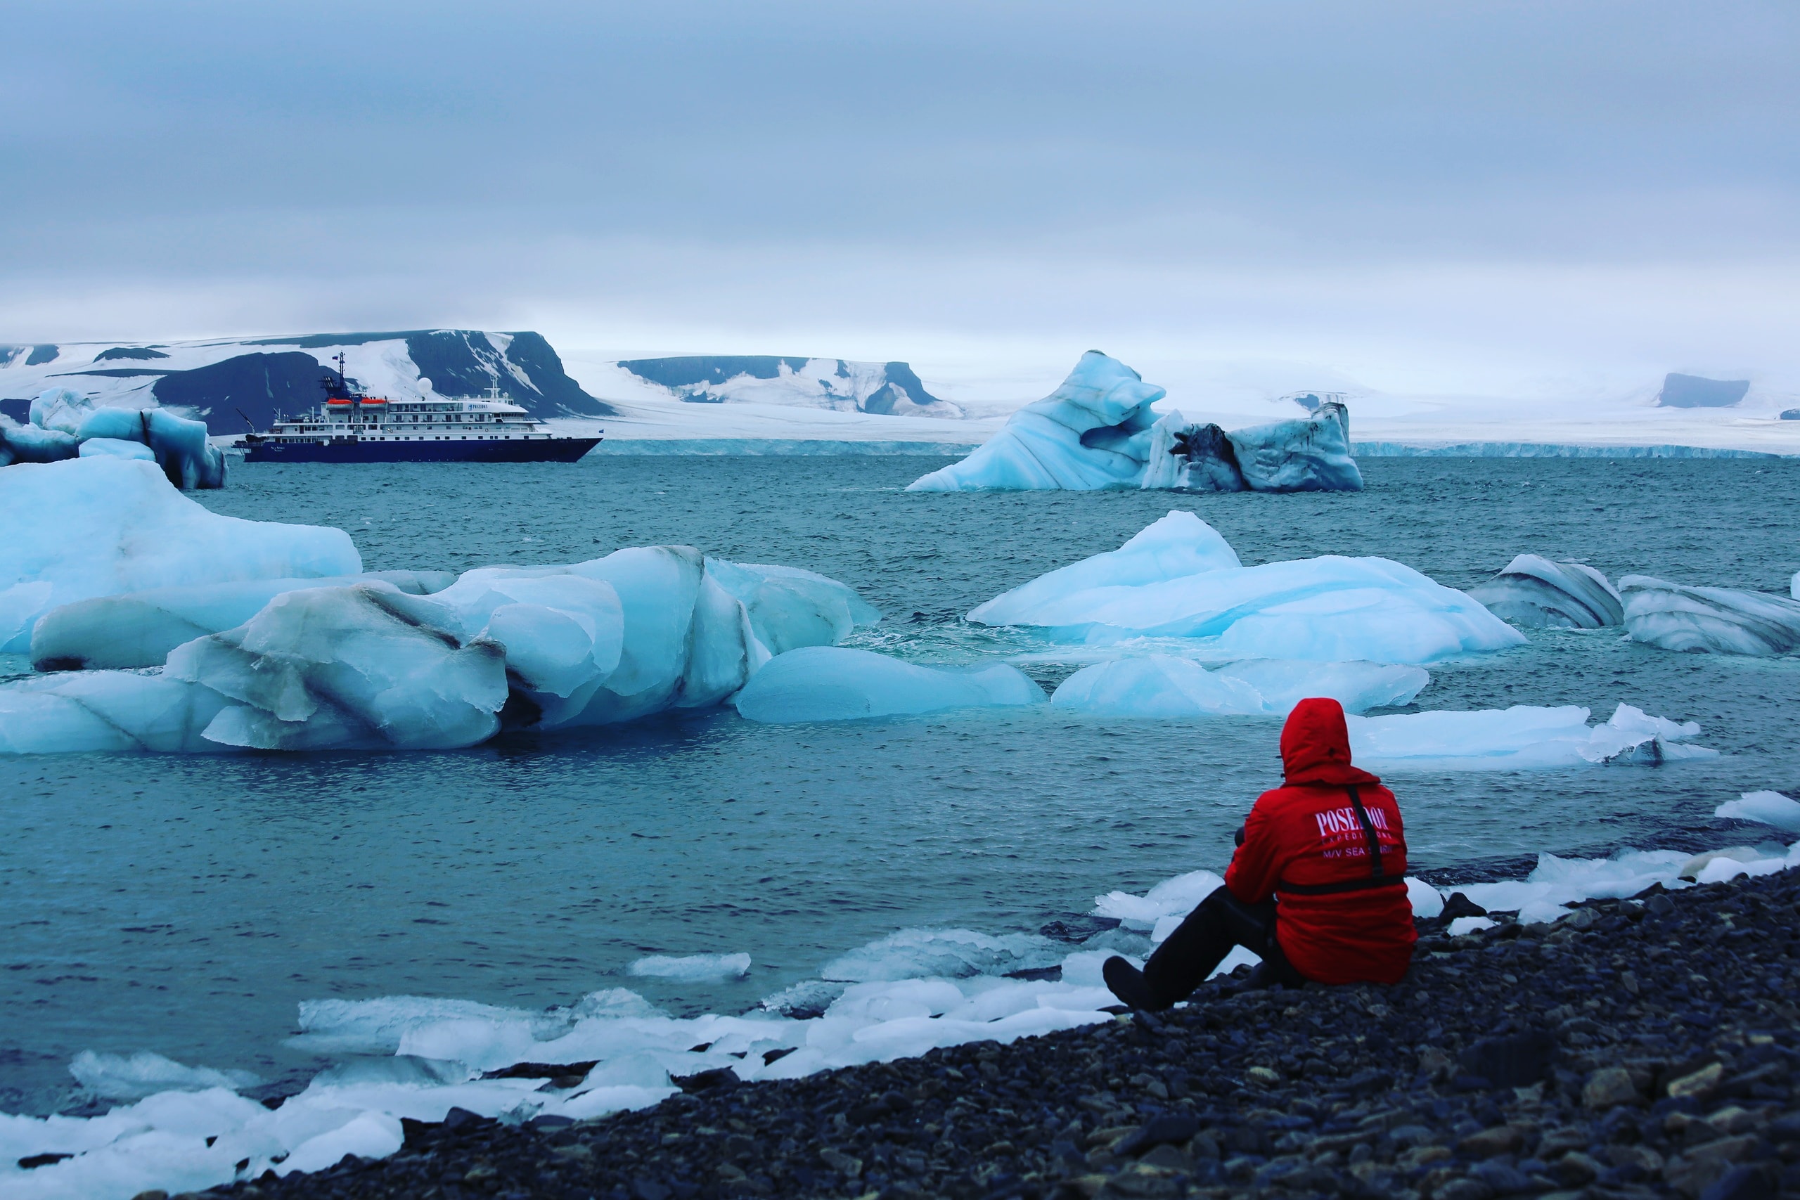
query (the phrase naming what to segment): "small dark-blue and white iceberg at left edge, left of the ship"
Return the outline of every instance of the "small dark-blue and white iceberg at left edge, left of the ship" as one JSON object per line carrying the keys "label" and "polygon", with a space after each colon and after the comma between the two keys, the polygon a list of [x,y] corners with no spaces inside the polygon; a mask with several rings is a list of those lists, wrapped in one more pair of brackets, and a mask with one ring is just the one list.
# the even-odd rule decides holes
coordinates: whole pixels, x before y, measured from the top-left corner
{"label": "small dark-blue and white iceberg at left edge, left of the ship", "polygon": [[176,488],[223,488],[225,455],[203,421],[167,408],[95,407],[65,387],[31,401],[31,425],[0,417],[0,466],[76,457],[144,459]]}

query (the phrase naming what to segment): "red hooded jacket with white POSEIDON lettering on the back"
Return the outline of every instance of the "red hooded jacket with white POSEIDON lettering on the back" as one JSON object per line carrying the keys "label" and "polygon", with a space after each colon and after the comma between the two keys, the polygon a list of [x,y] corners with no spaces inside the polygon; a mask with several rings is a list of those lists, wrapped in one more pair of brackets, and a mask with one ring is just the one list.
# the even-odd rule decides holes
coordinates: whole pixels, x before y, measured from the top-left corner
{"label": "red hooded jacket with white POSEIDON lettering on the back", "polygon": [[[1393,792],[1350,765],[1350,730],[1336,700],[1294,705],[1282,727],[1282,765],[1287,784],[1256,797],[1226,887],[1244,903],[1276,898],[1276,939],[1307,979],[1399,982],[1417,934]],[[1381,878],[1391,883],[1375,883],[1370,833],[1381,847]]]}

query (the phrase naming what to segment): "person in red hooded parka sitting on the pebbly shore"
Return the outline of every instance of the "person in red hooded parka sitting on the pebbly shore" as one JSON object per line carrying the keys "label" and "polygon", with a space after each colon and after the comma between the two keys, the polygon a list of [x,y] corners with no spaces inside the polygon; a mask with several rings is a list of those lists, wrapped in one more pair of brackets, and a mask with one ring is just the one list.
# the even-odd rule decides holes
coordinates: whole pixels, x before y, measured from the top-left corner
{"label": "person in red hooded parka sitting on the pebbly shore", "polygon": [[1336,700],[1301,700],[1282,727],[1287,783],[1256,797],[1219,887],[1139,972],[1107,959],[1107,988],[1165,1009],[1201,986],[1231,946],[1262,957],[1262,982],[1395,984],[1413,961],[1400,806],[1350,765]]}

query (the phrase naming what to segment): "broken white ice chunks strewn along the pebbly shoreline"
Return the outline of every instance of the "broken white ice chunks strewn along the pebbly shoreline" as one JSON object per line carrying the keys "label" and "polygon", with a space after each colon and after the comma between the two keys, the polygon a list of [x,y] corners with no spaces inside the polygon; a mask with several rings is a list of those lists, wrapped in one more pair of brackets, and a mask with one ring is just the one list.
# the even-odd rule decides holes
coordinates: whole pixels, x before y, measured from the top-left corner
{"label": "broken white ice chunks strewn along the pebbly shoreline", "polygon": [[[1634,896],[1800,867],[1791,847],[1728,847],[1708,855],[1624,851],[1613,858],[1541,855],[1523,880],[1458,883],[1474,903],[1555,921],[1589,898]],[[1408,878],[1418,916],[1438,916],[1445,892]],[[891,1061],[965,1042],[1109,1022],[1100,979],[1111,954],[1143,961],[1220,878],[1193,871],[1145,894],[1094,898],[1116,923],[1080,945],[1035,934],[900,930],[821,968],[821,979],[736,1015],[671,1016],[614,988],[576,1004],[515,1009],[472,1000],[383,997],[301,1004],[293,1049],[340,1058],[274,1110],[234,1088],[241,1072],[187,1067],[155,1054],[79,1054],[90,1092],[131,1099],[97,1117],[0,1114],[0,1191],[9,1200],[128,1200],[148,1189],[198,1191],[234,1178],[319,1171],[346,1153],[380,1159],[403,1142],[401,1119],[441,1121],[464,1108],[504,1121],[589,1119],[655,1105],[671,1078],[731,1070],[745,1081],[799,1078],[833,1067]],[[709,955],[707,970],[745,955]],[[684,963],[693,959],[673,959]],[[1237,950],[1220,970],[1255,963]],[[1030,972],[1039,979],[1017,979]],[[1053,977],[1053,979],[1051,979]],[[799,999],[805,997],[805,1002]],[[520,1063],[589,1063],[578,1081],[551,1074],[484,1078]],[[68,1155],[20,1169],[20,1159]],[[239,1166],[241,1164],[241,1166]]]}

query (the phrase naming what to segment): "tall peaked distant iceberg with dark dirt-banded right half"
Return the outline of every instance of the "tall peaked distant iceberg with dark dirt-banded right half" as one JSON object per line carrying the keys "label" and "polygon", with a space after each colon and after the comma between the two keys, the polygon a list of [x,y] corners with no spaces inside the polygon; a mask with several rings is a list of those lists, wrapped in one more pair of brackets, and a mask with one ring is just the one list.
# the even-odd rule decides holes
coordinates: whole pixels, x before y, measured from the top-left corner
{"label": "tall peaked distant iceberg with dark dirt-banded right half", "polygon": [[1226,432],[1150,407],[1165,390],[1100,351],[1001,432],[907,491],[1175,488],[1190,491],[1359,491],[1350,414],[1339,403],[1296,421]]}

